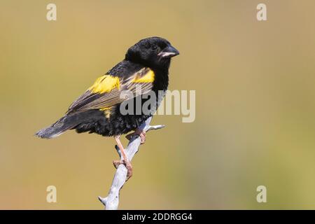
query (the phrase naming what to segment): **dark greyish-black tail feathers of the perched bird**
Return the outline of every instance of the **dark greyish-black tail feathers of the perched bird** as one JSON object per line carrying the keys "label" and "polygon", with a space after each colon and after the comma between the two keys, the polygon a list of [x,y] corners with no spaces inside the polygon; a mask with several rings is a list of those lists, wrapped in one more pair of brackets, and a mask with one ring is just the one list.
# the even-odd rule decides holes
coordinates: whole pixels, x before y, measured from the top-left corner
{"label": "dark greyish-black tail feathers of the perched bird", "polygon": [[35,135],[42,139],[51,139],[59,136],[64,133],[66,130],[69,130],[78,125],[78,120],[73,119],[73,116],[64,116],[57,120],[56,123],[46,127],[42,130],[39,130]]}

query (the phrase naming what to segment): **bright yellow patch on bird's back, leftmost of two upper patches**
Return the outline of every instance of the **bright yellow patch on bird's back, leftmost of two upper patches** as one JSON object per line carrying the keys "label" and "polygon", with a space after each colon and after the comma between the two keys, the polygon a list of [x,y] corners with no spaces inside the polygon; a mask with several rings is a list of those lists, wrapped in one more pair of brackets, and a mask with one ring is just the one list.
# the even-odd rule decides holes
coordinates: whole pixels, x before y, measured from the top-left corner
{"label": "bright yellow patch on bird's back, leftmost of two upper patches", "polygon": [[95,81],[95,83],[88,89],[93,93],[102,94],[104,92],[111,92],[116,87],[119,89],[119,78],[111,75],[104,75]]}

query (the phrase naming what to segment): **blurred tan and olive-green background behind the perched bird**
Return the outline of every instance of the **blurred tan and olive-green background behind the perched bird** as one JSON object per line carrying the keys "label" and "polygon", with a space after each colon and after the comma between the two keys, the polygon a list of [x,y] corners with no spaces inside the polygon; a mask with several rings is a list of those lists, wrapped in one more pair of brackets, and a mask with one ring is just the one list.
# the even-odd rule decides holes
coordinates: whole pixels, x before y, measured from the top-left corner
{"label": "blurred tan and olive-green background behind the perched bird", "polygon": [[[315,209],[315,1],[0,5],[0,209],[104,209],[113,138],[33,134],[148,36],[181,52],[169,89],[196,90],[196,120],[153,118],[167,127],[135,156],[120,209]],[[57,203],[45,200],[50,185]]]}

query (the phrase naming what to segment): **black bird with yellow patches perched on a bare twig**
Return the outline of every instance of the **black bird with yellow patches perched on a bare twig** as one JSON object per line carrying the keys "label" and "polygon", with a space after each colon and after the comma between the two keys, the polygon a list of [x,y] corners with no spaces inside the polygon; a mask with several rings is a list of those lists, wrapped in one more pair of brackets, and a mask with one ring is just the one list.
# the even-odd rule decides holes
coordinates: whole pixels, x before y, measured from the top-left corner
{"label": "black bird with yellow patches perched on a bare twig", "polygon": [[[132,176],[132,165],[127,158],[120,135],[134,130],[139,134],[141,143],[145,141],[145,132],[138,127],[153,115],[160,103],[160,92],[165,92],[169,84],[169,65],[171,57],[179,55],[165,38],[145,38],[127,50],[125,59],[116,64],[104,76],[97,78],[75,102],[69,106],[65,116],[50,127],[36,133],[38,137],[50,139],[59,136],[66,130],[76,132],[97,133],[106,137],[115,137],[123,155],[122,161],[113,161],[115,167],[124,164],[127,167],[127,179]],[[133,97],[122,97],[124,90]],[[139,90],[141,92],[139,93]],[[140,106],[151,98],[144,97],[149,92],[155,94],[155,105],[149,106],[150,112],[137,110],[137,99],[141,97]],[[162,94],[163,95],[163,94]],[[153,98],[154,99],[154,98]],[[127,104],[132,103],[134,104]],[[122,105],[128,111],[138,113],[122,113]],[[136,105],[132,109],[130,105]],[[130,137],[130,135],[128,135]]]}

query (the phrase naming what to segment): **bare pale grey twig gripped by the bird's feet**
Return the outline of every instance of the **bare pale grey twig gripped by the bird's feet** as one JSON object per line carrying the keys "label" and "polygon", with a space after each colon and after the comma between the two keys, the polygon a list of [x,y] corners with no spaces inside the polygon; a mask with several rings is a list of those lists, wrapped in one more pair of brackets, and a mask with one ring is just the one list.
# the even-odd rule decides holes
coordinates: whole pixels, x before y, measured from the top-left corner
{"label": "bare pale grey twig gripped by the bird's feet", "polygon": [[[145,130],[148,132],[149,130],[158,130],[165,125],[155,125],[151,126],[152,117],[148,118],[142,125],[140,125],[141,130]],[[132,160],[134,155],[139,151],[139,146],[141,144],[140,137],[134,136],[130,139],[129,144],[126,148],[126,153],[129,160]],[[118,155],[120,156],[120,160],[123,160],[120,150],[118,146],[115,146]],[[109,195],[107,197],[99,197],[99,200],[104,204],[106,210],[116,210],[118,209],[119,204],[119,193],[120,189],[123,188],[123,185],[126,182],[127,177],[127,168],[125,165],[119,165],[118,169],[116,170],[116,174],[113,178],[113,183],[111,183],[111,189],[109,190]]]}

